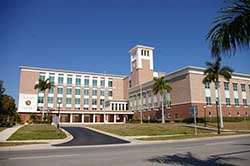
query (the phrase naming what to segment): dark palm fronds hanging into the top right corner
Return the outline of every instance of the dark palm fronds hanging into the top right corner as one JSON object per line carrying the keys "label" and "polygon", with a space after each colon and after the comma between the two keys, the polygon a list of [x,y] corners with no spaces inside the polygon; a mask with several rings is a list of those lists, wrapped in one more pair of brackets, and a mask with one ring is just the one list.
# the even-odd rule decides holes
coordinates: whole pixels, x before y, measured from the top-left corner
{"label": "dark palm fronds hanging into the top right corner", "polygon": [[213,57],[250,46],[250,0],[229,2],[231,6],[218,11],[221,15],[207,34]]}

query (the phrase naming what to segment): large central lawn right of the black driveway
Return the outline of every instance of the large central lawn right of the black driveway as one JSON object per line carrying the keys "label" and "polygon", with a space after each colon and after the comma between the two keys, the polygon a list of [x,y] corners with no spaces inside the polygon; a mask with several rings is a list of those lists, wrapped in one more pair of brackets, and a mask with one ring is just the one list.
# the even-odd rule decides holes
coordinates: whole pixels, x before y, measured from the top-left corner
{"label": "large central lawn right of the black driveway", "polygon": [[[102,130],[121,136],[153,136],[153,135],[174,135],[192,134],[194,129],[183,127],[182,124],[172,123],[144,123],[144,124],[107,124],[89,125],[91,128]],[[198,133],[210,133],[206,130],[198,130]]]}

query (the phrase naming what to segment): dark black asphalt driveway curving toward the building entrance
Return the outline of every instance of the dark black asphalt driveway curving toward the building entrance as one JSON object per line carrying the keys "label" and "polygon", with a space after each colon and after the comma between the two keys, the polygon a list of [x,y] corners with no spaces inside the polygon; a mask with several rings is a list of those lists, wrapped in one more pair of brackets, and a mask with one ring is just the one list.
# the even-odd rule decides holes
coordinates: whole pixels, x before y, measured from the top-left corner
{"label": "dark black asphalt driveway curving toward the building entrance", "polygon": [[74,138],[62,144],[55,146],[80,146],[80,145],[104,145],[104,144],[123,144],[128,141],[101,134],[83,127],[63,127]]}

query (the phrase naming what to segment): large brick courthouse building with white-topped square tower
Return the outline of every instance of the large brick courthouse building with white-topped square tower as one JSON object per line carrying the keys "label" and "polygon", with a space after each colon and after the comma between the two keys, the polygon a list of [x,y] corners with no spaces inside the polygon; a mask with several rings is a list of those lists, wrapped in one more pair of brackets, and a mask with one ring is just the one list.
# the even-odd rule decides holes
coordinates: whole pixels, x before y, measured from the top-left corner
{"label": "large brick courthouse building with white-topped square tower", "polygon": [[[188,66],[171,73],[156,72],[153,50],[137,45],[129,51],[129,76],[21,66],[18,113],[26,121],[31,114],[44,111],[55,117],[60,110],[62,123],[125,123],[141,115],[158,119],[161,101],[152,93],[153,78],[165,77],[172,87],[163,101],[166,119],[188,118],[194,107],[199,117],[216,116],[218,91],[213,83],[202,83],[205,69]],[[34,89],[39,79],[47,78],[54,88]],[[220,85],[223,116],[248,116],[250,75],[233,73],[229,82],[221,78]]]}

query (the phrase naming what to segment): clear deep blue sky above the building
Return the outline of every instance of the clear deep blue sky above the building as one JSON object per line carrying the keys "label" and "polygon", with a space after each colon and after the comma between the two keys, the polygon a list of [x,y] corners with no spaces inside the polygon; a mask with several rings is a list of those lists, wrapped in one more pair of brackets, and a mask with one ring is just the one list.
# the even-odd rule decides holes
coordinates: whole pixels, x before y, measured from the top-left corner
{"label": "clear deep blue sky above the building", "polygon": [[[211,56],[205,41],[217,0],[1,0],[0,80],[17,99],[19,66],[128,75],[129,49],[155,47],[156,71],[193,65]],[[250,73],[249,50],[224,65]]]}

